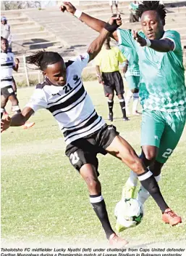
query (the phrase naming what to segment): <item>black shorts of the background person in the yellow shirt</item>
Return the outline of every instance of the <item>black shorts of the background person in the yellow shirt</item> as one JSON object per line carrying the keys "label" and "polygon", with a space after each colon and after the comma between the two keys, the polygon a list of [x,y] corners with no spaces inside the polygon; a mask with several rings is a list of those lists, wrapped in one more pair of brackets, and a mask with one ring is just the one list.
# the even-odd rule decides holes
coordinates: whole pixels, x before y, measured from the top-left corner
{"label": "black shorts of the background person in the yellow shirt", "polygon": [[113,95],[114,91],[117,92],[117,95],[124,94],[123,79],[119,71],[108,73],[102,72],[102,78],[104,81],[103,88],[106,97]]}

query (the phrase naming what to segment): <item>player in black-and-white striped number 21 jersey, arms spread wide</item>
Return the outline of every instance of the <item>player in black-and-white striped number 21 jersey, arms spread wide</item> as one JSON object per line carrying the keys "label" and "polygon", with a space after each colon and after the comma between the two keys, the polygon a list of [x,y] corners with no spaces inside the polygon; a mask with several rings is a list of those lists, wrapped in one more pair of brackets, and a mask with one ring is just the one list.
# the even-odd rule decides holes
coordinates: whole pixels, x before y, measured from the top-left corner
{"label": "player in black-and-white striped number 21 jersey, arms spread wide", "polygon": [[[143,167],[133,148],[119,136],[116,127],[108,126],[101,116],[98,116],[83,87],[83,68],[100,52],[106,36],[117,29],[115,19],[117,18],[112,17],[109,23],[106,23],[100,35],[88,47],[88,51],[74,61],[64,63],[63,58],[56,52],[40,51],[28,57],[28,63],[37,65],[46,79],[36,86],[30,102],[21,113],[14,115],[12,119],[7,117],[1,120],[1,132],[10,126],[22,125],[38,109],[46,108],[50,111],[63,132],[69,161],[88,185],[90,204],[101,221],[109,244],[124,247],[127,241],[117,236],[109,223],[106,204],[101,194],[101,183],[98,180],[98,153],[110,153],[122,160],[138,175],[140,183],[151,193],[158,207],[162,211],[169,207],[152,173]],[[120,20],[117,19],[117,22],[120,23]]]}

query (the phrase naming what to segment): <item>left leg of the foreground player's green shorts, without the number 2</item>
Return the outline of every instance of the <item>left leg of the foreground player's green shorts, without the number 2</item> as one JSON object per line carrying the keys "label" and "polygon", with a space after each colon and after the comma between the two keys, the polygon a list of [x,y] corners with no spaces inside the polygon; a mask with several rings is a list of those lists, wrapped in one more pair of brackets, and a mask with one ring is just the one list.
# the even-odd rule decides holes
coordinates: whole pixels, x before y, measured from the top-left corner
{"label": "left leg of the foreground player's green shorts, without the number 2", "polygon": [[141,145],[153,145],[159,148],[164,132],[165,120],[160,111],[143,111],[141,123]]}

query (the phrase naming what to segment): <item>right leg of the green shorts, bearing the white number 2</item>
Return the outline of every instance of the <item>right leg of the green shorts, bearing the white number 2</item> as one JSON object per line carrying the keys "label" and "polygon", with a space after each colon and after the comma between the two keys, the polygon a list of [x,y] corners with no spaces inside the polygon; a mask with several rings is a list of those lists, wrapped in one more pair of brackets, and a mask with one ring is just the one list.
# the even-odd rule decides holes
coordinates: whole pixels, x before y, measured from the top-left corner
{"label": "right leg of the green shorts, bearing the white number 2", "polygon": [[174,148],[176,148],[177,143],[182,136],[186,119],[185,111],[165,113],[165,115],[169,116],[169,122],[166,124],[164,133],[161,137],[158,156],[156,158],[156,160],[162,164],[164,164],[169,159],[169,156],[171,156]]}

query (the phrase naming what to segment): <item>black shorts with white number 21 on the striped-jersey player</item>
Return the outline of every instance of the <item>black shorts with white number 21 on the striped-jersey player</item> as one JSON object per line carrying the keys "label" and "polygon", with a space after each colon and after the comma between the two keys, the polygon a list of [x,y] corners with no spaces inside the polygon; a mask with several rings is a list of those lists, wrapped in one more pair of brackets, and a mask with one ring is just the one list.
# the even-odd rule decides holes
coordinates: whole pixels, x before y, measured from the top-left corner
{"label": "black shorts with white number 21 on the striped-jersey player", "polygon": [[109,147],[117,135],[119,135],[119,132],[117,132],[116,127],[104,124],[101,129],[91,135],[72,141],[67,145],[65,154],[77,171],[80,172],[80,168],[84,164],[92,164],[97,175],[99,175],[96,156],[98,153],[106,155],[106,148]]}

